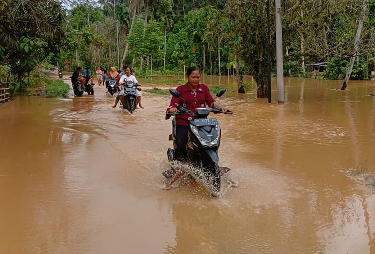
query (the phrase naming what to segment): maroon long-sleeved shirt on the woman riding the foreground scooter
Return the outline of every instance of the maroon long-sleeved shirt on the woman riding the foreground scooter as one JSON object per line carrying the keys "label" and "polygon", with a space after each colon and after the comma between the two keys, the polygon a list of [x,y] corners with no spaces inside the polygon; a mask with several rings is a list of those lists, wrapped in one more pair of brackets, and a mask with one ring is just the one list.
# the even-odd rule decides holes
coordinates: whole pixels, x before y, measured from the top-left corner
{"label": "maroon long-sleeved shirt on the woman riding the foreground scooter", "polygon": [[[215,101],[208,90],[208,87],[205,84],[198,84],[195,90],[195,96],[193,90],[189,87],[186,83],[184,85],[180,85],[176,88],[180,96],[185,100],[187,109],[190,109],[193,113],[196,112],[196,108],[205,108],[206,105],[211,106],[211,104]],[[178,108],[179,106],[183,106],[183,100],[180,98],[172,97],[171,104],[169,105],[168,109],[170,108]],[[166,119],[169,119],[169,115],[166,115]],[[192,115],[176,115],[176,125],[188,125],[189,120],[193,120],[194,117]]]}

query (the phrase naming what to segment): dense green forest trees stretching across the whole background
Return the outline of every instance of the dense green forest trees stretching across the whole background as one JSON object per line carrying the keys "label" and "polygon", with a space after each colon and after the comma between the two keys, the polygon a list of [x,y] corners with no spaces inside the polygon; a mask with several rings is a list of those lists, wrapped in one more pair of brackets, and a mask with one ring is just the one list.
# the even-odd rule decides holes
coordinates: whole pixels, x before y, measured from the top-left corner
{"label": "dense green forest trees stretching across the whole background", "polygon": [[[133,66],[138,76],[181,74],[184,65],[199,66],[205,74],[252,75],[258,97],[267,96],[264,0],[115,0],[115,12],[112,0],[68,3],[1,1],[0,58],[11,65],[17,82],[42,62],[58,63],[65,70],[78,65],[117,67],[119,55],[120,65]],[[284,74],[307,77],[309,64],[325,61],[329,65],[324,78],[343,78],[354,54],[362,4],[363,0],[283,1]],[[272,73],[273,6],[271,1]],[[373,70],[374,28],[375,0],[369,0],[352,79],[366,79]]]}

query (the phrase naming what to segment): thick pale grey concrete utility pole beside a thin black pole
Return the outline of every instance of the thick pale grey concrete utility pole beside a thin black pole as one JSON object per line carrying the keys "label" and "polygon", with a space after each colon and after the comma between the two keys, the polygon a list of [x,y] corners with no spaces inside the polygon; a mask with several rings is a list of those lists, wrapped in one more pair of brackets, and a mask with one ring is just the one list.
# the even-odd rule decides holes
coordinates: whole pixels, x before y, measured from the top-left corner
{"label": "thick pale grey concrete utility pole beside a thin black pole", "polygon": [[278,82],[278,103],[284,103],[284,68],[282,59],[281,0],[275,0],[276,7],[276,70]]}

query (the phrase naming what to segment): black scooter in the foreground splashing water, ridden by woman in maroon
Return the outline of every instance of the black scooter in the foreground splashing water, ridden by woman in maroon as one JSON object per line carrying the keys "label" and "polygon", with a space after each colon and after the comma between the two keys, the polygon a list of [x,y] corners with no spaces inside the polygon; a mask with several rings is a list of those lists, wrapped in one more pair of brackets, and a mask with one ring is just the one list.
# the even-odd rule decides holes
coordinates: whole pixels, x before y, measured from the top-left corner
{"label": "black scooter in the foreground splashing water, ridden by woman in maroon", "polygon": [[[216,94],[221,97],[226,89],[220,90]],[[169,89],[169,93],[173,97],[180,98],[183,102],[184,99],[180,97],[177,90]],[[215,99],[216,99],[215,98]],[[216,118],[207,118],[210,113],[214,114],[233,114],[232,111],[221,111],[220,109],[213,108],[197,108],[196,113],[187,109],[185,102],[180,106],[175,113],[167,111],[168,115],[191,115],[193,120],[189,121],[188,127],[188,141],[186,145],[187,156],[189,163],[193,166],[189,170],[189,174],[193,178],[203,184],[203,186],[214,196],[218,196],[220,192],[220,172],[219,172],[219,156],[217,150],[220,145],[220,126]],[[169,140],[173,141],[173,149],[168,148],[167,155],[168,161],[174,160],[174,151],[176,149],[175,136],[176,135],[176,121],[172,120],[172,134],[169,135]],[[172,163],[172,170],[174,163]]]}

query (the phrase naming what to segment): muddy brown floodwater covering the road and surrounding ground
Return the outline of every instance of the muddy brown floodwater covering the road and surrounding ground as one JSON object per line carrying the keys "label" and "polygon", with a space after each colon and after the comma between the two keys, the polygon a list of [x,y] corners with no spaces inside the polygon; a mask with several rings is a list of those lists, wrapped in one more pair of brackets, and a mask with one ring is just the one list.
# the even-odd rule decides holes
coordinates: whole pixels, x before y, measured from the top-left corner
{"label": "muddy brown floodwater covering the road and surrounding ground", "polygon": [[221,197],[162,190],[170,96],[143,93],[131,116],[98,86],[16,98],[0,108],[0,253],[375,253],[375,82],[339,87],[285,78],[284,105],[227,92],[220,165],[238,186]]}

